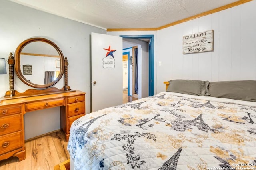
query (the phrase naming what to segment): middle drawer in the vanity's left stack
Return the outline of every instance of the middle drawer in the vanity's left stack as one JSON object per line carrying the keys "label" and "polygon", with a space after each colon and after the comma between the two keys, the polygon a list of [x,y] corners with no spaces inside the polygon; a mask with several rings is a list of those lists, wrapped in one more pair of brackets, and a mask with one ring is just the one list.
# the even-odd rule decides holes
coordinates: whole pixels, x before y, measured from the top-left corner
{"label": "middle drawer in the vanity's left stack", "polygon": [[6,116],[0,119],[0,135],[22,130],[22,114]]}

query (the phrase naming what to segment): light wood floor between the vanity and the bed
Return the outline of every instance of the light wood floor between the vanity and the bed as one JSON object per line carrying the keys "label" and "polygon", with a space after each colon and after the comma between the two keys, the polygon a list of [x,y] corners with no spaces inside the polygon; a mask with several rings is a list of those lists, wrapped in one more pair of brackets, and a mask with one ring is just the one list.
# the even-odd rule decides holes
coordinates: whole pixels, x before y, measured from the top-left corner
{"label": "light wood floor between the vanity and the bed", "polygon": [[25,142],[26,159],[10,157],[0,161],[0,170],[53,170],[70,158],[62,131]]}

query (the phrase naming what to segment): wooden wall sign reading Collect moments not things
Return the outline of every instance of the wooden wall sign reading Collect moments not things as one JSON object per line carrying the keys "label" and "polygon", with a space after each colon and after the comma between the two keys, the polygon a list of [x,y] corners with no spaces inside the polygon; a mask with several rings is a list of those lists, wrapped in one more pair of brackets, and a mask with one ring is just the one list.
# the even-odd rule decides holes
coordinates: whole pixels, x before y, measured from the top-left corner
{"label": "wooden wall sign reading Collect moments not things", "polygon": [[183,36],[183,54],[213,50],[213,30]]}

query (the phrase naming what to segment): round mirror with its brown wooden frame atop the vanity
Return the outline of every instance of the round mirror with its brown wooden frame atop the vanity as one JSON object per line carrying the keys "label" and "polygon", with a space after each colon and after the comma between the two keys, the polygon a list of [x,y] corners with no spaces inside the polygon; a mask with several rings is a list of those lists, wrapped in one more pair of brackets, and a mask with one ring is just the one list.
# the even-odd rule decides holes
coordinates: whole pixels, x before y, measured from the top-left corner
{"label": "round mirror with its brown wooden frame atop the vanity", "polygon": [[22,82],[34,88],[56,84],[64,72],[60,48],[45,38],[23,41],[15,51],[15,71]]}

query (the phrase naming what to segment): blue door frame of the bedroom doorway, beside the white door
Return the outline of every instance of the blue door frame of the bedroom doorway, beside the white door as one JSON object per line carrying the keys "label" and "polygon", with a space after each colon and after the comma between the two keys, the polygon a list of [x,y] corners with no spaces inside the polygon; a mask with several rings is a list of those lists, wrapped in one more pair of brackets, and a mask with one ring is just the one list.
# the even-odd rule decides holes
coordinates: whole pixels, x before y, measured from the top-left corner
{"label": "blue door frame of the bedroom doorway, beside the white door", "polygon": [[154,35],[120,35],[122,38],[139,39],[146,38],[150,39],[148,47],[148,96],[154,95]]}

